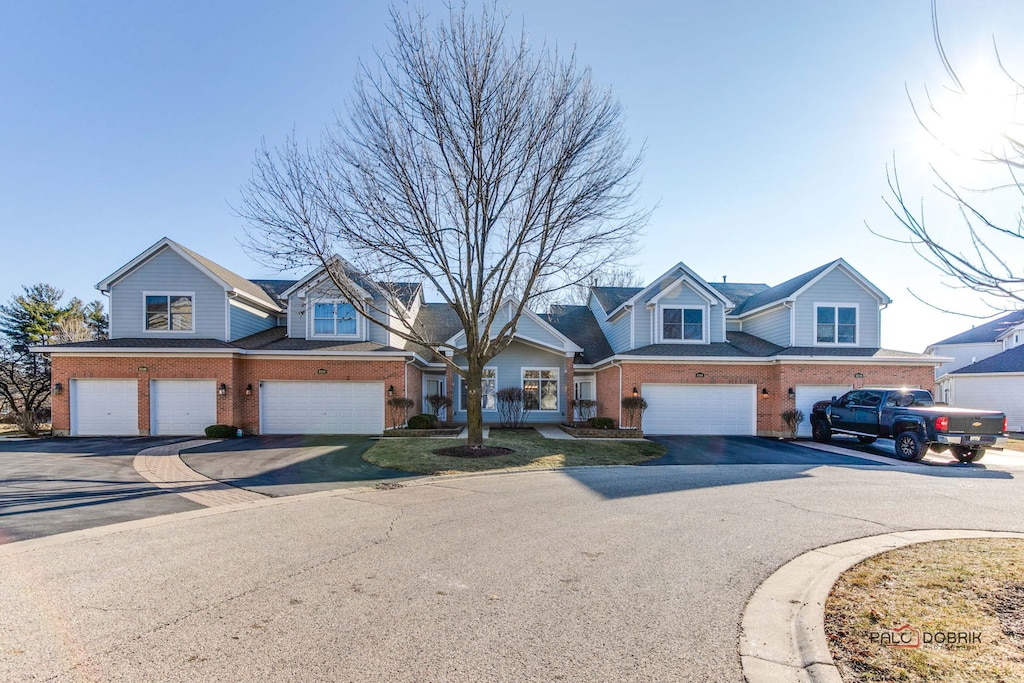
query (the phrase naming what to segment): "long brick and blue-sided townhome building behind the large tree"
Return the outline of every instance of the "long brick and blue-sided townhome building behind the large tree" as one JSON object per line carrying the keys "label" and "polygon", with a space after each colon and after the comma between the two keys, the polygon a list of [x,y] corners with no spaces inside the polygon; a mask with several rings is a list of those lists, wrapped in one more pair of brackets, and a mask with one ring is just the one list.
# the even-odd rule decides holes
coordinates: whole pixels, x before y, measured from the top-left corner
{"label": "long brick and blue-sided townhome building behind the large tree", "polygon": [[[445,362],[463,366],[459,354],[382,327],[412,321],[459,348],[450,306],[425,301],[418,283],[353,280],[379,316],[361,316],[323,268],[246,280],[161,240],[97,286],[110,296],[110,339],[34,349],[53,361],[54,432],[188,435],[219,423],[375,434],[397,426],[388,397],[413,399],[413,414],[433,394],[452,398],[444,419],[465,422],[465,386]],[[498,420],[500,389],[520,387],[530,422],[571,421],[574,401],[596,399],[598,415],[621,423],[623,397],[642,395],[648,433],[781,435],[787,408],[809,415],[861,386],[932,388],[941,359],[880,348],[889,303],[842,259],[776,287],[709,283],[682,263],[645,288],[595,287],[588,305],[523,314],[484,371],[484,421]],[[498,327],[514,306],[503,302]]]}

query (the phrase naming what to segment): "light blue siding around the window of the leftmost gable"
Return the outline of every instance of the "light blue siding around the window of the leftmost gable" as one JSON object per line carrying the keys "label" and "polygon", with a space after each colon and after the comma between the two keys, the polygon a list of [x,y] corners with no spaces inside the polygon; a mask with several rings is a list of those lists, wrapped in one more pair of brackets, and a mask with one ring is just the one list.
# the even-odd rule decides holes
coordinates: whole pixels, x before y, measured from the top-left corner
{"label": "light blue siding around the window of the leftmost gable", "polygon": [[[145,329],[143,292],[193,293],[191,332]],[[111,286],[111,339],[227,339],[227,293],[206,273],[165,247]]]}

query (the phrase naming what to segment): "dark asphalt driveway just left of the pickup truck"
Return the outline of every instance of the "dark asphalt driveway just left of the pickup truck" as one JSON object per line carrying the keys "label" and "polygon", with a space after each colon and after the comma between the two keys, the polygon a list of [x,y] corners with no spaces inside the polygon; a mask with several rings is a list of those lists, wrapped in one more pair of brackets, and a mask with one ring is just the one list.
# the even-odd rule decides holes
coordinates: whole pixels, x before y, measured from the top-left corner
{"label": "dark asphalt driveway just left of the pickup truck", "polygon": [[866,459],[760,436],[648,436],[668,453],[647,465],[869,465]]}

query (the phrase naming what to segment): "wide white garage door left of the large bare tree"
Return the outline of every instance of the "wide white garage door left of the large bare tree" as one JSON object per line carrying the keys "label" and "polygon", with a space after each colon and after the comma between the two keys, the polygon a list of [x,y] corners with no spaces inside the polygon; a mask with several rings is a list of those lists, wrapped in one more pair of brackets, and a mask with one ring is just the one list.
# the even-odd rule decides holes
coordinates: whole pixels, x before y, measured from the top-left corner
{"label": "wide white garage door left of the large bare tree", "polygon": [[380,382],[260,382],[263,434],[379,434]]}

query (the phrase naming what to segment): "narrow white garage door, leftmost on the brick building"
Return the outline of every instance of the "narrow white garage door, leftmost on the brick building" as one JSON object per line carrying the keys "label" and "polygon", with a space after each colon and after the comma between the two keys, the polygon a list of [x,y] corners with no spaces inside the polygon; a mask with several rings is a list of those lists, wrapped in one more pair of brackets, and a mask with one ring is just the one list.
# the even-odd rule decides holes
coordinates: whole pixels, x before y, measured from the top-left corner
{"label": "narrow white garage door, leftmost on the brick building", "polygon": [[72,380],[72,436],[138,436],[137,380]]}

